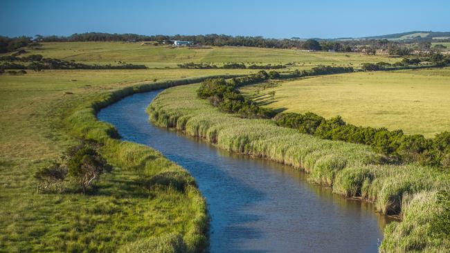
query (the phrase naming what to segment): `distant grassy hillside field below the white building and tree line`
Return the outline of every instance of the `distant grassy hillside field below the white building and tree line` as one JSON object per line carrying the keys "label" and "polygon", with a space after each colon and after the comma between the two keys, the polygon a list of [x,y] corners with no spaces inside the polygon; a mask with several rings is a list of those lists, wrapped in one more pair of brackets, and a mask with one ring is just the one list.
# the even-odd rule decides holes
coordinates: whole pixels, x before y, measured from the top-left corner
{"label": "distant grassy hillside field below the white building and tree line", "polygon": [[186,62],[244,62],[246,64],[296,63],[296,68],[308,68],[318,64],[359,66],[363,62],[398,62],[398,58],[359,53],[300,52],[294,49],[212,47],[172,48],[170,46],[141,45],[140,42],[48,42],[42,48],[27,50],[25,55],[40,54],[44,57],[107,64],[128,62],[145,64],[149,68],[177,67]]}

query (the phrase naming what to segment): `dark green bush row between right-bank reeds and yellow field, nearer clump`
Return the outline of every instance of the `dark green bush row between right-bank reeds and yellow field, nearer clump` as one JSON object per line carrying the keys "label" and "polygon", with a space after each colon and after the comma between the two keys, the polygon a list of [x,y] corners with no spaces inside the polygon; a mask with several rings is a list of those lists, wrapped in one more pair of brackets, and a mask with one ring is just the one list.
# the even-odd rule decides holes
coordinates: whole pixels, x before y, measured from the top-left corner
{"label": "dark green bush row between right-bank reeds and yellow field, nearer clump", "polygon": [[274,118],[281,127],[298,129],[327,140],[342,140],[366,144],[382,153],[391,162],[418,162],[421,165],[450,169],[450,132],[439,133],[433,139],[424,135],[405,135],[402,130],[357,127],[337,116],[325,119],[314,113],[282,113]]}

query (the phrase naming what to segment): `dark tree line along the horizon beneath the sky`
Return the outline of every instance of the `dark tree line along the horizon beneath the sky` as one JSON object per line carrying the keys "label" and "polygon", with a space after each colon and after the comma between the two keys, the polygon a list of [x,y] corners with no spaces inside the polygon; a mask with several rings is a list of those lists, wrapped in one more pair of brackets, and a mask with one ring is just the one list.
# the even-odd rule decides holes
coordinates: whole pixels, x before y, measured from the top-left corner
{"label": "dark tree line along the horizon beneath the sky", "polygon": [[[157,41],[161,44],[170,44],[174,40],[191,41],[202,46],[251,46],[260,48],[298,48],[305,50],[334,50],[336,52],[351,52],[365,50],[366,53],[375,53],[377,49],[389,50],[390,55],[406,55],[411,50],[429,50],[429,41],[420,41],[415,47],[407,47],[402,41],[388,41],[387,39],[271,39],[261,36],[230,36],[230,35],[137,35],[133,33],[117,34],[106,32],[74,33],[69,36],[42,36],[32,37],[0,37],[0,53],[7,53],[39,42],[62,41]],[[438,50],[438,48],[436,48]]]}

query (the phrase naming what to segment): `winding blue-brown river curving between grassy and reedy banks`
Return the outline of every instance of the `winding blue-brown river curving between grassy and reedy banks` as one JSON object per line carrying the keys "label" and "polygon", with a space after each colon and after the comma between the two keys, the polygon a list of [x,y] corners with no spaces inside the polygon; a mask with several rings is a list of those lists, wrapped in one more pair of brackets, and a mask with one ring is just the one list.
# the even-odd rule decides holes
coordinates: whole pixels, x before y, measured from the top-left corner
{"label": "winding blue-brown river curving between grassy and reedy banks", "polygon": [[208,203],[210,252],[377,252],[388,220],[372,204],[336,196],[291,167],[154,127],[145,109],[159,92],[125,97],[98,119],[190,171]]}

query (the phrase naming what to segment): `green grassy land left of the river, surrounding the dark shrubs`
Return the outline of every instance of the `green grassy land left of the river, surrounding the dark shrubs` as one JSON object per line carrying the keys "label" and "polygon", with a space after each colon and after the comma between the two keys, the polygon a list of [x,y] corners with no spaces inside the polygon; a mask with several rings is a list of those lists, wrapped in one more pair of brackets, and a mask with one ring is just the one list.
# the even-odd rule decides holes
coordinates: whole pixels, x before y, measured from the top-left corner
{"label": "green grassy land left of the river, surrounding the dark shrubs", "polygon": [[[192,78],[149,82],[141,78],[151,78],[154,71],[136,71],[136,76],[129,71],[126,77],[115,72],[0,77],[5,98],[1,117],[10,123],[1,127],[0,252],[200,252],[208,245],[206,203],[194,178],[158,151],[118,140],[114,127],[96,119],[101,108],[127,95],[201,82],[204,77],[188,71]],[[165,72],[153,74],[161,78]],[[89,73],[101,78],[91,75],[87,82]],[[62,82],[73,78],[67,75],[78,81]],[[170,77],[177,78],[171,73],[165,79]],[[8,111],[13,105],[20,109],[17,114]],[[98,151],[114,166],[111,173],[86,194],[37,194],[35,171],[80,139],[100,144]]]}

